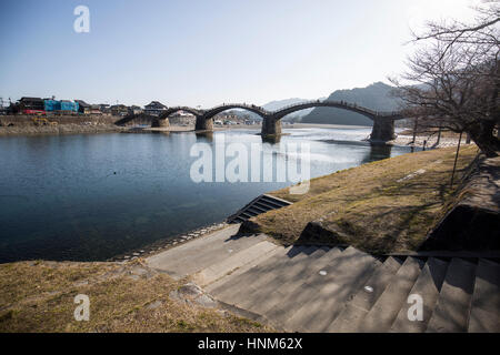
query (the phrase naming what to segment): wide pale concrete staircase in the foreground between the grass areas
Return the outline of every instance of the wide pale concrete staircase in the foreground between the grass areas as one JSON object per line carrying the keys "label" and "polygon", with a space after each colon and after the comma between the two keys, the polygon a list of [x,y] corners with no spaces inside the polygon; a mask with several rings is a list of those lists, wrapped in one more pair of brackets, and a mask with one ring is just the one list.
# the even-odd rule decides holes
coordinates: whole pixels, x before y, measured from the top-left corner
{"label": "wide pale concrete staircase in the foreground between the grass areas", "polygon": [[[278,246],[266,235],[232,236],[237,230],[148,264],[190,276],[220,306],[287,332],[500,332],[498,258],[377,258],[353,247]],[[408,316],[414,295],[421,321]]]}

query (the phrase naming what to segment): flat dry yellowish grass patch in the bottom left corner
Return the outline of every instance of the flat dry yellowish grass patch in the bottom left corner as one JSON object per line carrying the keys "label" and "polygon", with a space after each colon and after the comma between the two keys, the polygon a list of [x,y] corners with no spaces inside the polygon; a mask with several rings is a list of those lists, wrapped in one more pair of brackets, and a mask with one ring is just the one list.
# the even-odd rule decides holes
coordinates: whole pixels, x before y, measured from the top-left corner
{"label": "flat dry yellowish grass patch in the bottom left corner", "polygon": [[[269,331],[227,312],[171,300],[169,293],[181,284],[140,263],[3,264],[0,332]],[[73,317],[77,294],[90,297],[89,322]]]}

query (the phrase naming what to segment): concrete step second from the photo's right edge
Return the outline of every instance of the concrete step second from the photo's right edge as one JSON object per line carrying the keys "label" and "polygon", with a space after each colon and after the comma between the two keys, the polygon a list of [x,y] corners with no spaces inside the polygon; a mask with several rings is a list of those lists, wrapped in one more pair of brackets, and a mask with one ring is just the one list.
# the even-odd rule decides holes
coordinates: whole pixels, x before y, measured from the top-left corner
{"label": "concrete step second from the photo's right edge", "polygon": [[427,332],[462,333],[469,323],[476,264],[452,258]]}

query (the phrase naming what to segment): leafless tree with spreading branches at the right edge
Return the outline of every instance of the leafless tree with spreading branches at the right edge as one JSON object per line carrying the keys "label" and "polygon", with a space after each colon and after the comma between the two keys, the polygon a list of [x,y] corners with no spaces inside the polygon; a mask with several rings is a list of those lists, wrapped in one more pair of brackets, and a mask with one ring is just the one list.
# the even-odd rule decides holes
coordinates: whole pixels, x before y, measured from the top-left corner
{"label": "leafless tree with spreading branches at the right edge", "polygon": [[420,47],[409,59],[398,87],[408,116],[423,128],[467,132],[488,156],[500,152],[493,131],[500,126],[498,2],[476,8],[474,23],[430,22],[414,34]]}

